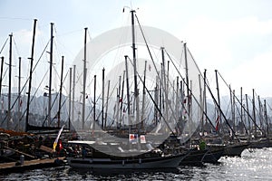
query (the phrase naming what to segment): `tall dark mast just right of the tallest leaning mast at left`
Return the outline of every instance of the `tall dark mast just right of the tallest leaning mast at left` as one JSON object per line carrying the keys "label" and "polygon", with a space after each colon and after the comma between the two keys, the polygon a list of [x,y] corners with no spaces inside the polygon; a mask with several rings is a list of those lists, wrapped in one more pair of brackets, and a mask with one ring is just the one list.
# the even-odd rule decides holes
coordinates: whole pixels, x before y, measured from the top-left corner
{"label": "tall dark mast just right of the tallest leaning mast at left", "polygon": [[51,23],[51,41],[50,41],[50,69],[49,69],[49,90],[48,90],[48,123],[51,122],[51,90],[52,90],[52,66],[53,66],[53,23]]}

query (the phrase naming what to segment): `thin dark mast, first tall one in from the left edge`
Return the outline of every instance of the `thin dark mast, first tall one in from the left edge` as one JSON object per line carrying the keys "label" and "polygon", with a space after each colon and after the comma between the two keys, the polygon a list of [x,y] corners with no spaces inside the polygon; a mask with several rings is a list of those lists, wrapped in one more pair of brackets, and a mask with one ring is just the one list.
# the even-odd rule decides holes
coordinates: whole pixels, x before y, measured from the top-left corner
{"label": "thin dark mast, first tall one in from the left edge", "polygon": [[8,81],[8,111],[7,111],[7,121],[6,129],[9,129],[9,121],[11,119],[11,81],[12,81],[12,45],[13,45],[13,34],[9,35],[9,81]]}

